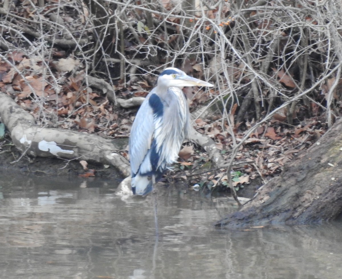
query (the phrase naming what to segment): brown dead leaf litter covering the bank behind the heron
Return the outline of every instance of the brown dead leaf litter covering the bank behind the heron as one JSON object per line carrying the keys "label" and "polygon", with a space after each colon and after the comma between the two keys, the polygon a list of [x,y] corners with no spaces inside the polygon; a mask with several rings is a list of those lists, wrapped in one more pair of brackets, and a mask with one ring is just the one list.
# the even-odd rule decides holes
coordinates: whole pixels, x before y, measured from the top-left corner
{"label": "brown dead leaf litter covering the bank behind the heron", "polygon": [[[162,4],[168,10],[174,8],[172,1],[163,0]],[[228,11],[229,6],[227,5],[223,12],[227,13]],[[208,17],[215,18],[216,12],[207,11]],[[37,19],[35,13],[26,16],[34,20]],[[85,14],[85,16],[88,15]],[[64,15],[59,20],[64,21],[64,24],[68,25],[68,29],[73,32],[81,30],[71,16]],[[175,23],[177,28],[179,19],[168,17],[167,20],[170,23]],[[85,18],[82,19],[82,24],[84,22],[86,22]],[[272,27],[270,22],[261,21],[260,25],[268,26],[267,28]],[[140,26],[140,31],[143,32],[144,28],[145,26]],[[64,38],[63,34],[61,38]],[[159,40],[171,44],[175,41],[175,36],[165,38],[161,34]],[[134,46],[127,43],[127,49],[129,48],[134,50]],[[1,91],[12,96],[19,106],[35,117],[39,125],[96,133],[109,138],[128,139],[137,108],[124,109],[110,103],[102,92],[86,85],[87,73],[78,59],[68,56],[63,50],[53,49],[52,51],[53,55],[47,60],[40,57],[28,57],[20,51],[8,53],[7,58],[12,64],[0,61]],[[212,62],[216,63],[214,60]],[[200,65],[196,63],[192,65],[185,63],[185,65],[202,75]],[[211,68],[214,69],[214,64]],[[296,87],[292,74],[282,68],[272,68],[272,70],[279,83],[290,89]],[[18,71],[21,74],[18,74]],[[227,71],[231,72],[235,78],[243,77],[242,64],[228,68]],[[248,76],[244,79],[246,79],[246,83],[249,82]],[[116,96],[121,98],[146,96],[153,87],[151,80],[155,80],[155,77],[144,76],[142,80],[128,86],[119,80],[115,85]],[[326,97],[333,82],[332,78],[322,87]],[[55,85],[52,86],[52,84]],[[210,90],[210,94],[198,92],[194,95],[190,88],[185,88],[184,93],[191,100],[189,105],[192,110],[207,104],[211,101],[212,96],[218,94],[218,92]],[[334,94],[336,95],[336,92]],[[335,95],[334,97],[336,97]],[[257,127],[234,158],[235,165],[238,167],[233,167],[233,171],[234,173],[240,172],[241,175],[233,178],[233,186],[248,184],[260,177],[267,179],[278,175],[287,162],[324,134],[327,130],[325,116],[321,115],[319,105],[314,102],[310,105],[312,112],[310,117],[298,119],[297,114],[292,116],[293,119],[298,120],[295,125],[289,126],[284,123],[287,121],[287,111],[284,108],[279,110],[268,123]],[[237,104],[234,104],[229,116],[232,123],[234,123],[237,109]],[[216,148],[229,162],[234,142],[232,136],[227,132],[228,128],[234,132],[235,140],[240,142],[255,122],[251,120],[244,124],[234,123],[233,127],[229,127],[227,121],[213,116],[198,118],[194,124],[197,131],[215,141]],[[222,127],[225,129],[223,130]],[[128,158],[127,151],[126,145],[120,154]],[[208,154],[196,144],[185,143],[179,157],[179,164],[173,166],[174,172],[170,172],[167,179],[187,180],[186,183],[189,185],[199,184],[202,187],[208,186],[208,188],[218,186],[226,188],[228,181],[226,170],[216,168],[211,163]],[[87,162],[80,161],[80,163],[87,171]],[[94,170],[88,170],[84,176],[94,176],[95,173]]]}

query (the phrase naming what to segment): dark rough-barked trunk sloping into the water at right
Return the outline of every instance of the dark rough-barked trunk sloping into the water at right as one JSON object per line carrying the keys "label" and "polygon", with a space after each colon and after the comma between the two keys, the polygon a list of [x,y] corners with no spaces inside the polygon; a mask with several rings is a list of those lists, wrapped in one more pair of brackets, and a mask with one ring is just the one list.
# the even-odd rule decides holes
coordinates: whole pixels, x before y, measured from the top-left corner
{"label": "dark rough-barked trunk sloping into the water at right", "polygon": [[342,212],[342,119],[259,190],[240,211],[216,226],[332,221]]}

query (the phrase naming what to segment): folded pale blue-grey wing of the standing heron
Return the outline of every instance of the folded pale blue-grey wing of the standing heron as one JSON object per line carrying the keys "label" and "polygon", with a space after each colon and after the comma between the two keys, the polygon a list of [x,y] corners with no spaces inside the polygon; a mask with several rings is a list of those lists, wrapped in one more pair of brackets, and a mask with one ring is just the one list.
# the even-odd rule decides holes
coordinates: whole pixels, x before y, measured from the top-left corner
{"label": "folded pale blue-grey wing of the standing heron", "polygon": [[138,172],[140,165],[144,161],[144,158],[151,147],[154,131],[154,118],[153,110],[148,104],[148,99],[152,93],[153,90],[146,96],[132,125],[129,138],[131,175]]}

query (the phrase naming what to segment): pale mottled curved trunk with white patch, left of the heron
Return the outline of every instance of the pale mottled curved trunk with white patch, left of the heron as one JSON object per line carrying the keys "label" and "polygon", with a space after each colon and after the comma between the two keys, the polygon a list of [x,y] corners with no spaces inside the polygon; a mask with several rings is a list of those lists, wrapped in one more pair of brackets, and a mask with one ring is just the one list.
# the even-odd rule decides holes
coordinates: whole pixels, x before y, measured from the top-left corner
{"label": "pale mottled curved trunk with white patch, left of the heron", "polygon": [[113,165],[123,175],[129,175],[129,163],[118,153],[119,147],[112,139],[39,127],[32,115],[4,93],[0,93],[0,118],[10,131],[14,145],[28,155],[91,160]]}

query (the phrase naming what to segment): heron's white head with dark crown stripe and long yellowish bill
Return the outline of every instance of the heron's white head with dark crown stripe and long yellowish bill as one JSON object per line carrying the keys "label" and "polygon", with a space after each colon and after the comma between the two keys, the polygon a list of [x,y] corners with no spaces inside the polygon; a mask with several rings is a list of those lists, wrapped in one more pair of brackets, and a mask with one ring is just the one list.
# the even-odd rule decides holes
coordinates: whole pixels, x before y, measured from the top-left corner
{"label": "heron's white head with dark crown stripe and long yellowish bill", "polygon": [[182,89],[185,86],[208,86],[213,87],[214,85],[188,76],[185,72],[181,71],[177,68],[166,68],[161,72],[157,82],[158,86],[165,86],[165,87],[178,87]]}

